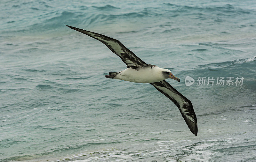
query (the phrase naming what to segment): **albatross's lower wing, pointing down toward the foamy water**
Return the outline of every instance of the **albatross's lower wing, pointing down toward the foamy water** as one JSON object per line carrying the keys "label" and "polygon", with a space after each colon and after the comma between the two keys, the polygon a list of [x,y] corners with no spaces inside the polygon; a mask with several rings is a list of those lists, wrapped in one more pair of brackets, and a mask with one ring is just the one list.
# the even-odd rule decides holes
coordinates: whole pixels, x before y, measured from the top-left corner
{"label": "albatross's lower wing, pointing down toward the foamy water", "polygon": [[174,89],[172,85],[170,85],[165,80],[150,84],[153,85],[158,91],[163,93],[166,97],[172,100],[172,102],[179,108],[180,113],[183,116],[185,122],[187,123],[190,131],[194,135],[197,135],[196,114],[191,101],[184,97],[182,94],[180,94],[180,92]]}

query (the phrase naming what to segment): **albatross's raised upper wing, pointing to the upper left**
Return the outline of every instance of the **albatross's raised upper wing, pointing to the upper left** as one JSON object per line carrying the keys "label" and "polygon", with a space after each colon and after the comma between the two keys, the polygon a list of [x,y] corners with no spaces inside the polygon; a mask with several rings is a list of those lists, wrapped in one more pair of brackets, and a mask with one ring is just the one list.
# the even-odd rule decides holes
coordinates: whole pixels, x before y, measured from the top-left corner
{"label": "albatross's raised upper wing, pointing to the upper left", "polygon": [[[67,25],[68,26],[68,25]],[[137,69],[138,67],[149,66],[147,63],[142,61],[138,56],[136,56],[132,51],[126,48],[120,41],[110,38],[108,36],[90,32],[87,30],[79,29],[73,26],[68,26],[78,32],[84,33],[98,41],[104,43],[112,52],[118,55],[121,60],[126,64],[127,68]]]}

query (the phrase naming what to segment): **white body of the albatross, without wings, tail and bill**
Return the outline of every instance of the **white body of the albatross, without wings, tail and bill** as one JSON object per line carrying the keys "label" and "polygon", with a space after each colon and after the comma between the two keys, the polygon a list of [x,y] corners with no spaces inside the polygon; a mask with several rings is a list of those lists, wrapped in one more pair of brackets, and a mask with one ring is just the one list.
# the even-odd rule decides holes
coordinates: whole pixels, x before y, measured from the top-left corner
{"label": "white body of the albatross, without wings, tail and bill", "polygon": [[129,82],[135,82],[135,83],[154,83],[154,82],[160,82],[162,80],[167,79],[169,76],[163,75],[162,71],[169,71],[168,69],[162,69],[158,66],[154,67],[142,67],[138,70],[127,68],[123,71],[118,72],[116,77],[113,79],[120,79],[125,80]]}

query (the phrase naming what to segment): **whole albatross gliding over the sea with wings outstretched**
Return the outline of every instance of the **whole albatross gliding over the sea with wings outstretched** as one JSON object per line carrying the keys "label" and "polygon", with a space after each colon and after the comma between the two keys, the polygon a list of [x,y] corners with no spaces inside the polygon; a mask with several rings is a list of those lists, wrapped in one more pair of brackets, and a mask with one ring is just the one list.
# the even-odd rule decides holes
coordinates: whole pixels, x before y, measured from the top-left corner
{"label": "whole albatross gliding over the sea with wings outstretched", "polygon": [[170,70],[145,63],[116,39],[73,26],[68,27],[102,42],[126,64],[127,69],[119,72],[109,72],[109,75],[105,75],[105,77],[135,83],[149,83],[153,85],[159,92],[171,99],[179,108],[188,128],[195,136],[197,136],[196,114],[191,101],[174,89],[172,85],[165,80],[171,78],[180,82],[180,79],[175,77]]}

